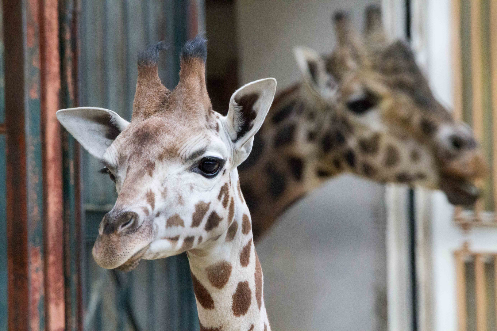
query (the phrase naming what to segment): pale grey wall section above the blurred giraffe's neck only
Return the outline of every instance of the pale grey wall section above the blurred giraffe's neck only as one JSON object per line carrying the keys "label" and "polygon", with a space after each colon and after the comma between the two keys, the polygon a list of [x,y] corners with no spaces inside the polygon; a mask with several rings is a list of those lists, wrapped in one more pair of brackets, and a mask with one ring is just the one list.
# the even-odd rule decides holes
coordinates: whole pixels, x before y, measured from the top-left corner
{"label": "pale grey wall section above the blurred giraffe's neck only", "polygon": [[274,77],[281,90],[300,78],[296,45],[330,53],[335,43],[331,14],[348,10],[362,29],[366,4],[379,0],[238,0],[240,83]]}

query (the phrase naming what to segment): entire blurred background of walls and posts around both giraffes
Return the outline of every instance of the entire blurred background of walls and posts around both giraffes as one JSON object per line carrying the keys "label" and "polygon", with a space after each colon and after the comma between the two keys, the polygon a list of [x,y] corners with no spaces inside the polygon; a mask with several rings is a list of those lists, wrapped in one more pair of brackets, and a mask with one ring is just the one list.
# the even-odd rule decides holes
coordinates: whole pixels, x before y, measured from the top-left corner
{"label": "entire blurred background of walls and posts around both giraffes", "polygon": [[199,330],[186,255],[129,273],[94,263],[115,188],[55,111],[95,106],[129,120],[137,52],[169,42],[160,77],[172,89],[181,46],[205,31],[208,92],[224,114],[249,81],[275,77],[278,91],[299,81],[292,49],[331,53],[331,15],[346,10],[362,30],[369,4],[473,127],[491,176],[469,210],[352,175],[299,200],[256,243],[271,327],[497,330],[497,0],[3,0],[0,331]]}

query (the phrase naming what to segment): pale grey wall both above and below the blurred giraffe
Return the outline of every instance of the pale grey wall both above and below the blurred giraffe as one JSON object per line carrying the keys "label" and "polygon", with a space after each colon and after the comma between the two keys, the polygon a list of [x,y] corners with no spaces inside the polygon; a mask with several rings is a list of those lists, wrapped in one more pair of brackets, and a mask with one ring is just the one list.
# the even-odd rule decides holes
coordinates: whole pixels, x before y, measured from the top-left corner
{"label": "pale grey wall both above and below the blurred giraffe", "polygon": [[[300,79],[292,49],[330,53],[331,14],[346,9],[362,29],[379,1],[238,0],[240,83]],[[384,187],[351,175],[331,180],[280,217],[257,244],[273,330],[386,330]]]}

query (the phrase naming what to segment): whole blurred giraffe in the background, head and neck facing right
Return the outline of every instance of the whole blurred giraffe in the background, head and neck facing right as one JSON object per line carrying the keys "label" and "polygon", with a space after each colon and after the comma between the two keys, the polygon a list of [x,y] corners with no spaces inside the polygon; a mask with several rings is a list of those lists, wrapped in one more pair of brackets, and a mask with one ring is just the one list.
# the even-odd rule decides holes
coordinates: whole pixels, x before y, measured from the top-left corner
{"label": "whole blurred giraffe in the background, head and neck facing right", "polygon": [[453,204],[478,197],[486,165],[473,132],[438,103],[404,43],[387,45],[381,12],[360,38],[334,15],[337,47],[296,48],[303,82],[281,92],[239,167],[254,238],[295,200],[342,172],[443,190]]}

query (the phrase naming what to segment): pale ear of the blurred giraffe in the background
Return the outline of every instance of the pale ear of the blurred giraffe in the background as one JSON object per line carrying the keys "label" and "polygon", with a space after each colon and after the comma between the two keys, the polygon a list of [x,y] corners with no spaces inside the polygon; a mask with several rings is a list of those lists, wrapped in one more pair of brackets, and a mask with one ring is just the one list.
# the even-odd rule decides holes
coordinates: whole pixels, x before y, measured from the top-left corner
{"label": "pale ear of the blurred giraffe in the background", "polygon": [[337,83],[326,70],[326,62],[318,52],[303,46],[293,49],[295,60],[306,84],[312,91],[328,100],[336,95]]}

